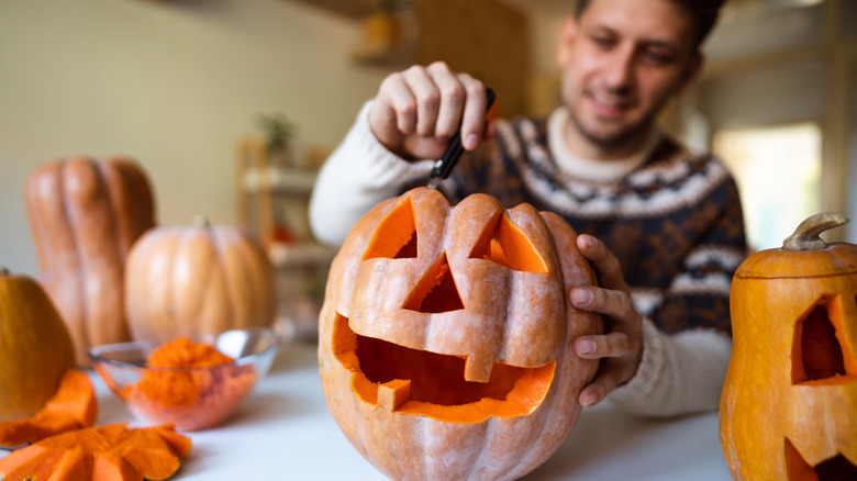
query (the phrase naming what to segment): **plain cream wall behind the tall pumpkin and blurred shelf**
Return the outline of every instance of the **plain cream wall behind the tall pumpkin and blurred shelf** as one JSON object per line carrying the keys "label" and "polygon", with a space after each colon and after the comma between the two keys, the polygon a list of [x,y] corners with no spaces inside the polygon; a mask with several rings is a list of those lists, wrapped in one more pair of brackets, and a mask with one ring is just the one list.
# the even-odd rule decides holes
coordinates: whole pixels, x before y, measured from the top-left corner
{"label": "plain cream wall behind the tall pumpkin and blurred shelf", "polygon": [[35,275],[24,183],[63,156],[126,154],[162,224],[235,220],[235,149],[260,114],[296,153],[335,145],[387,70],[355,65],[360,24],[286,0],[0,3],[0,264]]}

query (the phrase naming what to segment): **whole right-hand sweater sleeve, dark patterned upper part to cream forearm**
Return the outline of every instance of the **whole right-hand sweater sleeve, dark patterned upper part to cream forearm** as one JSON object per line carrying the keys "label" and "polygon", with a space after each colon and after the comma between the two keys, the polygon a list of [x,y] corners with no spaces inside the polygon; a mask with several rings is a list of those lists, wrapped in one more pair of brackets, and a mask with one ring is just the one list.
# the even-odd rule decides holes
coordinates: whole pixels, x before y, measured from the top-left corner
{"label": "whole right-hand sweater sleeve, dark patterned upper part to cream forearm", "polygon": [[732,354],[731,279],[746,256],[746,242],[737,188],[720,163],[710,167],[716,187],[689,208],[704,220],[704,228],[683,234],[693,246],[658,306],[647,309],[645,290],[632,288],[634,304],[645,316],[643,358],[634,378],[610,395],[625,411],[670,416],[720,405]]}

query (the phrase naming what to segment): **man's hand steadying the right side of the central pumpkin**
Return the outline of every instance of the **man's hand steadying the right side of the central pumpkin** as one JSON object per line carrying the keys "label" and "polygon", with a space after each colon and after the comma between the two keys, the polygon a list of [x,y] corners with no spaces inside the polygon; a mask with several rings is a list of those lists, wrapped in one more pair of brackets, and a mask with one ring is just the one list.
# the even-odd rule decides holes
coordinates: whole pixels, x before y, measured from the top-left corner
{"label": "man's hand steadying the right side of the central pumpkin", "polygon": [[571,304],[602,314],[606,331],[580,336],[574,344],[578,357],[604,358],[596,379],[580,392],[580,405],[592,406],[636,373],[643,354],[643,316],[631,302],[631,289],[613,253],[586,234],[578,236],[577,246],[594,267],[599,287],[574,289]]}

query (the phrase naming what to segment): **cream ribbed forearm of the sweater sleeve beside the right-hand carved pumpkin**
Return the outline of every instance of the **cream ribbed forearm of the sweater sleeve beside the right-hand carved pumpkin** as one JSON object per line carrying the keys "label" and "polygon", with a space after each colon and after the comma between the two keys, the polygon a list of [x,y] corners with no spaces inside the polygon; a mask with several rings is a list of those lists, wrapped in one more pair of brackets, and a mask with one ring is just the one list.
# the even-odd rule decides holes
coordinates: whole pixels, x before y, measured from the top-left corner
{"label": "cream ribbed forearm of the sweater sleeve beside the right-hand carved pumpkin", "polygon": [[608,399],[646,416],[716,411],[731,354],[732,340],[721,332],[689,329],[670,335],[644,318],[637,373]]}

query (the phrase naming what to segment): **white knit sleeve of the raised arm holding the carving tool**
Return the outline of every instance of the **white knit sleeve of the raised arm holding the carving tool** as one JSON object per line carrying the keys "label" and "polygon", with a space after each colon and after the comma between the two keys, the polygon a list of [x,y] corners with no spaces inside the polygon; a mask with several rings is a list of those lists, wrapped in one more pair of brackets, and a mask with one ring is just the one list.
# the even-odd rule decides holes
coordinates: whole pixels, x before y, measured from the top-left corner
{"label": "white knit sleeve of the raised arm holding the carving tool", "polygon": [[378,202],[427,178],[432,160],[407,161],[389,152],[369,128],[372,100],[360,109],[342,144],[324,163],[310,198],[310,228],[319,240],[338,246],[352,226]]}

